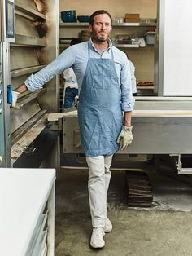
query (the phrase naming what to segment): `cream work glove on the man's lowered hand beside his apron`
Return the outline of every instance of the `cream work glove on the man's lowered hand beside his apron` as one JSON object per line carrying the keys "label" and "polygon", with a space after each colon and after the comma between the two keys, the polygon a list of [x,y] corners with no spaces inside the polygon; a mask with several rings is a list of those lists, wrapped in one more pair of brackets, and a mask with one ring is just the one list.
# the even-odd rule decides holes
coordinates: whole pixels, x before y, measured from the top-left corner
{"label": "cream work glove on the man's lowered hand beside his apron", "polygon": [[132,143],[132,128],[133,126],[123,126],[120,135],[117,138],[117,143],[120,143],[120,150],[128,148],[130,143]]}

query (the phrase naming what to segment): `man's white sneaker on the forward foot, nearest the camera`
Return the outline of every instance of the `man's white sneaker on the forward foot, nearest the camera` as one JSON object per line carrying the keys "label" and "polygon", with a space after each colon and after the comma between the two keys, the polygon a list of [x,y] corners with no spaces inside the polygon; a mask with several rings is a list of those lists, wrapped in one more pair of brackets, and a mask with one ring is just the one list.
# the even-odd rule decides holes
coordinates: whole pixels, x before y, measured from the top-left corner
{"label": "man's white sneaker on the forward foot, nearest the camera", "polygon": [[90,239],[90,246],[93,248],[103,248],[105,246],[103,236],[105,236],[103,227],[94,227]]}

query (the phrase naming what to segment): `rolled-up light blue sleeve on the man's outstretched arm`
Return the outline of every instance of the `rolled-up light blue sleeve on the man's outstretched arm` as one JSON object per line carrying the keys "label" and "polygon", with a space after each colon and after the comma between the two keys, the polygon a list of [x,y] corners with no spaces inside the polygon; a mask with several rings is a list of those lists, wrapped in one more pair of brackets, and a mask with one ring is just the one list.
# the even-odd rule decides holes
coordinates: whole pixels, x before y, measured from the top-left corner
{"label": "rolled-up light blue sleeve on the man's outstretched arm", "polygon": [[62,73],[66,68],[70,68],[74,61],[75,52],[73,51],[73,47],[70,46],[45,68],[28,77],[24,81],[24,84],[30,91],[39,90],[46,82],[49,82],[50,79],[55,77],[56,74]]}

